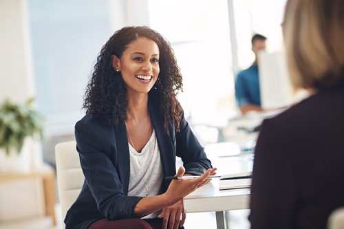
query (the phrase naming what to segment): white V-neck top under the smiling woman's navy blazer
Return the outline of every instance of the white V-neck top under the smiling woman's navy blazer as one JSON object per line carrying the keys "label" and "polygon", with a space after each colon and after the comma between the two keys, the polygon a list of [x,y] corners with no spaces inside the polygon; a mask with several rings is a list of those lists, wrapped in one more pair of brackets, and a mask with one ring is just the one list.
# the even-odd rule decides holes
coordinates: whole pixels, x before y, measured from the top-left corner
{"label": "white V-neck top under the smiling woman's navy blazer", "polygon": [[[162,171],[160,151],[155,131],[153,130],[151,138],[149,138],[141,153],[133,149],[131,144],[129,144],[129,152],[130,177],[128,195],[147,197],[160,194],[164,172]],[[143,218],[152,219],[158,215],[159,212],[154,212]]]}

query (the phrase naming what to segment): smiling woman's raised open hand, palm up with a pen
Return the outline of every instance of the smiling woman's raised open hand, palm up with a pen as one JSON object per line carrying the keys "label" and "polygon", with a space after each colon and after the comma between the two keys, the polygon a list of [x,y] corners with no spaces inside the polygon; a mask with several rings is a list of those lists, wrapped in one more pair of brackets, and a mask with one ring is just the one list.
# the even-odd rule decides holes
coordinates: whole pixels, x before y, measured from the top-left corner
{"label": "smiling woman's raised open hand, palm up with a pen", "polygon": [[[200,177],[194,179],[173,179],[169,188],[166,190],[166,196],[175,202],[179,201],[180,199],[184,198],[189,193],[192,193],[197,188],[208,184],[211,181],[211,178],[207,178],[208,176],[215,175],[217,168],[209,168],[205,171]],[[175,176],[182,177],[185,173],[185,168],[180,166],[178,172]]]}

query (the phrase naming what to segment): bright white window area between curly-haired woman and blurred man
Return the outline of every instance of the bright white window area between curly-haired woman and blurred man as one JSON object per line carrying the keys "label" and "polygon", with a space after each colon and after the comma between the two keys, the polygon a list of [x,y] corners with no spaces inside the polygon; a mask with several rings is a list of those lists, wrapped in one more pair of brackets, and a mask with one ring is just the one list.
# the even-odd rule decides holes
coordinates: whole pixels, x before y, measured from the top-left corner
{"label": "bright white window area between curly-haired woman and blurred man", "polygon": [[171,42],[183,74],[186,116],[214,122],[235,115],[226,0],[149,0],[149,22]]}

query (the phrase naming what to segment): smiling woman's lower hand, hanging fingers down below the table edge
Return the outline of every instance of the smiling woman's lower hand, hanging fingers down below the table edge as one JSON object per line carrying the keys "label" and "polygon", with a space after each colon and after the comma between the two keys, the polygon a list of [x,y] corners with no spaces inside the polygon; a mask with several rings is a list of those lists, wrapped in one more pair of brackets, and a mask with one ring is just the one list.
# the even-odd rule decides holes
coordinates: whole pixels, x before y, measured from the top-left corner
{"label": "smiling woman's lower hand, hanging fingers down below the table edge", "polygon": [[[182,215],[182,219],[180,219],[180,215]],[[158,218],[163,218],[162,229],[166,229],[167,224],[169,224],[169,229],[181,228],[184,225],[186,219],[183,199],[180,199],[180,201],[173,204],[172,206],[162,208],[162,211],[160,212],[160,215],[158,215]]]}

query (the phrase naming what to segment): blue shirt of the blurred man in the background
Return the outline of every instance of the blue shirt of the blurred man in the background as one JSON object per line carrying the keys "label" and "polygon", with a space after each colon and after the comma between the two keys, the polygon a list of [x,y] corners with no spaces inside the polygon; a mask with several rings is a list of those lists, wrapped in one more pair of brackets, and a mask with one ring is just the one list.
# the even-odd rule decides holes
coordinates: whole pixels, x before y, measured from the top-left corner
{"label": "blue shirt of the blurred man in the background", "polygon": [[258,66],[253,64],[237,75],[235,80],[235,97],[239,107],[248,103],[260,106],[260,89]]}

